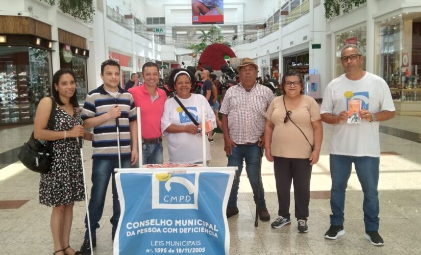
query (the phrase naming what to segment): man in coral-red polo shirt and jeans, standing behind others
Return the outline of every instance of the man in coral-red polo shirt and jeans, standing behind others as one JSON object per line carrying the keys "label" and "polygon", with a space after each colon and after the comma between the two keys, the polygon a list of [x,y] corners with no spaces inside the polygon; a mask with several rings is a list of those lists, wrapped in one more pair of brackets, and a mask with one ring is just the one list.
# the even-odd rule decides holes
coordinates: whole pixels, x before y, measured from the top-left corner
{"label": "man in coral-red polo shirt and jeans, standing behind others", "polygon": [[161,117],[167,97],[165,91],[158,88],[157,64],[146,62],[142,66],[142,77],[143,84],[129,89],[129,92],[135,106],[140,107],[143,164],[162,164]]}

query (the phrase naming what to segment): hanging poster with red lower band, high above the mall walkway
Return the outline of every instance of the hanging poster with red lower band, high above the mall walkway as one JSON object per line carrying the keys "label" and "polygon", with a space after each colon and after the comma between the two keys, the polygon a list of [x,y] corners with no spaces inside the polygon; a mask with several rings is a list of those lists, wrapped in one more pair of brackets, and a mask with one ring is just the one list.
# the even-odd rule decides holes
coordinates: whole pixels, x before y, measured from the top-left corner
{"label": "hanging poster with red lower band, high above the mall walkway", "polygon": [[224,24],[223,0],[191,0],[192,24]]}

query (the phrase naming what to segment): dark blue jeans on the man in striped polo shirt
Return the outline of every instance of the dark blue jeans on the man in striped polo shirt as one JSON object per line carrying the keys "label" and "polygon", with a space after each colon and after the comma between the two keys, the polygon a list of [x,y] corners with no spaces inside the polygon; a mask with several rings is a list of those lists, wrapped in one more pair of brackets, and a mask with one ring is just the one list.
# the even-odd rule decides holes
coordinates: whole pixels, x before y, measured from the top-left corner
{"label": "dark blue jeans on the man in striped polo shirt", "polygon": [[[113,192],[113,215],[110,222],[113,231],[116,230],[118,219],[120,218],[120,203],[118,201],[117,188],[115,185],[114,168],[118,168],[118,159],[95,159],[92,160],[92,188],[91,198],[89,199],[89,221],[91,225],[92,239],[96,239],[96,228],[100,227],[98,223],[101,220],[104,211],[105,195],[107,194],[108,183],[112,176]],[[121,168],[130,168],[130,158],[121,159]],[[88,218],[85,216],[85,239],[89,238]]]}

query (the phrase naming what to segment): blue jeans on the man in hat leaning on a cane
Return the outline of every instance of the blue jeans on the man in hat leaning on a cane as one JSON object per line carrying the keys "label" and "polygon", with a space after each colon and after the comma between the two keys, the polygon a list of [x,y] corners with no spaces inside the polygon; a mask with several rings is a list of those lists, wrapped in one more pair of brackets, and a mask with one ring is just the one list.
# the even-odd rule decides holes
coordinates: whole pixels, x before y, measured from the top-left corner
{"label": "blue jeans on the man in hat leaning on a cane", "polygon": [[[232,184],[228,206],[237,206],[238,188],[240,185],[240,175],[243,169],[243,160],[245,161],[245,171],[249,177],[250,185],[253,190],[254,202],[257,205],[257,191],[259,189],[259,168],[261,164],[261,148],[257,145],[238,145],[232,147],[232,155],[228,155],[228,166],[236,166],[235,178]],[[264,199],[263,183],[260,180],[259,208],[266,208]]]}

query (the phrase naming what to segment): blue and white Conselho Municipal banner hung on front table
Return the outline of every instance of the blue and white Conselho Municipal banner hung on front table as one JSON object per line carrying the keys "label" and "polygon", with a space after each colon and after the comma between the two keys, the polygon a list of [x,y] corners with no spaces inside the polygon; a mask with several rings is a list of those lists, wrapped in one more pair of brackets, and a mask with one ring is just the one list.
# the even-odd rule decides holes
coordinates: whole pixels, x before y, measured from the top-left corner
{"label": "blue and white Conselho Municipal banner hung on front table", "polygon": [[233,167],[116,170],[114,254],[229,254]]}

